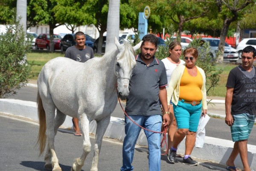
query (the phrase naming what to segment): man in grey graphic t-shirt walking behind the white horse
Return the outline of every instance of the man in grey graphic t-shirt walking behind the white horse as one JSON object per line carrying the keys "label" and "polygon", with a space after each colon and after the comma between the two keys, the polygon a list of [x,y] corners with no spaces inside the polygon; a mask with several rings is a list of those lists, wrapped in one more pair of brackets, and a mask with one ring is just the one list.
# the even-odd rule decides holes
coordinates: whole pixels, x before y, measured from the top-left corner
{"label": "man in grey graphic t-shirt walking behind the white horse", "polygon": [[[89,46],[85,46],[85,35],[83,32],[76,32],[75,42],[76,45],[67,48],[65,52],[65,57],[73,59],[78,62],[86,62],[87,60],[94,57],[93,49]],[[73,127],[75,130],[75,136],[81,136],[81,131],[79,129],[78,118],[73,118]]]}

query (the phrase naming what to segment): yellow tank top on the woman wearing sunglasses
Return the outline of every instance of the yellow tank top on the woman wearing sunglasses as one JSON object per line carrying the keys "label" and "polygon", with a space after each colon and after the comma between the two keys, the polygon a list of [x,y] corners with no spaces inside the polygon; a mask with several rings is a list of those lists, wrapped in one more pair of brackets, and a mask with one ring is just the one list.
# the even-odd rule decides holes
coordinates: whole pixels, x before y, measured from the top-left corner
{"label": "yellow tank top on the woman wearing sunglasses", "polygon": [[203,86],[203,77],[201,73],[197,70],[197,75],[195,77],[189,75],[189,72],[185,68],[183,75],[180,79],[180,99],[185,101],[201,101]]}

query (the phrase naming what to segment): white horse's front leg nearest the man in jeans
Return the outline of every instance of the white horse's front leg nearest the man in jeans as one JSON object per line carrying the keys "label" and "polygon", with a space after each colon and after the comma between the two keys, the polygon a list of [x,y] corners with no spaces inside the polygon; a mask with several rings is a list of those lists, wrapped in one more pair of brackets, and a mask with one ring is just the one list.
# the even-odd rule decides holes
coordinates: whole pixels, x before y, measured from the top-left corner
{"label": "white horse's front leg nearest the man in jeans", "polygon": [[100,121],[97,121],[93,164],[90,171],[98,171],[99,152],[102,145],[102,139],[103,139],[104,133],[106,132],[106,129],[108,128],[109,122],[110,122],[110,115]]}

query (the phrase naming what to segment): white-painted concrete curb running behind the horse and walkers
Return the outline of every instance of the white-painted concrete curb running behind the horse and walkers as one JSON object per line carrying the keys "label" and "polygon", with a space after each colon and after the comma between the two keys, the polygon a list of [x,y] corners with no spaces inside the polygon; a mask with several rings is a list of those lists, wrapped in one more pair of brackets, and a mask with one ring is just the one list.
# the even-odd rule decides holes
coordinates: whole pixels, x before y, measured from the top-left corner
{"label": "white-painted concrete curb running behind the horse and walkers", "polygon": [[[37,106],[32,101],[22,101],[15,99],[0,99],[0,112],[8,115],[15,115],[26,117],[34,121],[38,121]],[[67,116],[63,128],[72,128],[72,118]],[[96,122],[93,120],[90,123],[90,133],[96,133]],[[124,121],[121,118],[111,117],[111,121],[104,134],[105,137],[123,140],[125,137]],[[147,139],[144,131],[141,130],[137,145],[147,146]],[[256,146],[248,145],[248,161],[251,168],[256,169]],[[185,139],[180,143],[177,153],[183,154],[185,149]],[[205,143],[203,148],[194,148],[192,157],[199,159],[206,159],[212,162],[218,162],[225,165],[227,158],[230,156],[233,149],[233,142],[230,140],[218,139],[205,136]],[[163,148],[165,150],[165,148]],[[241,158],[238,156],[235,160],[236,166],[243,168]]]}

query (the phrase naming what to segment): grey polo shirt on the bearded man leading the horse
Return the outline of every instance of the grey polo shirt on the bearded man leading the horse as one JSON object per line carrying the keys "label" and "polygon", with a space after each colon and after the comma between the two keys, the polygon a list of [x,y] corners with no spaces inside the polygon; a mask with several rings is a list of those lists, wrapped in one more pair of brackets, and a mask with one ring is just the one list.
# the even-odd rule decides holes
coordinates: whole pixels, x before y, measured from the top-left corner
{"label": "grey polo shirt on the bearded man leading the horse", "polygon": [[140,54],[129,84],[125,112],[129,115],[150,116],[160,114],[159,87],[167,85],[166,69],[162,61],[154,57],[148,66]]}

